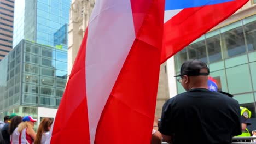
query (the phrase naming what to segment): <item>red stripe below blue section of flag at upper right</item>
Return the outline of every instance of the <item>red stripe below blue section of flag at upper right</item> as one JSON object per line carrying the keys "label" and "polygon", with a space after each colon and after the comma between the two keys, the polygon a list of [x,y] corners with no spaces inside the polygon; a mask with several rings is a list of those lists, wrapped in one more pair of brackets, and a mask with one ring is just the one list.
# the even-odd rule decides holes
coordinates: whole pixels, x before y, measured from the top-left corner
{"label": "red stripe below blue section of flag at upper right", "polygon": [[161,63],[235,13],[248,0],[236,0],[182,10],[164,25]]}

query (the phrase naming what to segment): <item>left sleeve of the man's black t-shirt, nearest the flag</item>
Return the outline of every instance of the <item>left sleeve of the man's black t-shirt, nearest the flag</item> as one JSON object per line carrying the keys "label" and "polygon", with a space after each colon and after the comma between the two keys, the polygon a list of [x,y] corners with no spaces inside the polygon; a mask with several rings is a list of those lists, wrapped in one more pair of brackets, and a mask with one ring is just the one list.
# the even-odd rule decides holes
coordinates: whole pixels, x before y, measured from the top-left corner
{"label": "left sleeve of the man's black t-shirt, nearest the flag", "polygon": [[166,101],[164,106],[162,107],[162,115],[161,121],[159,123],[159,131],[164,135],[172,135],[173,126],[174,126],[174,118],[172,117],[172,103],[173,99]]}

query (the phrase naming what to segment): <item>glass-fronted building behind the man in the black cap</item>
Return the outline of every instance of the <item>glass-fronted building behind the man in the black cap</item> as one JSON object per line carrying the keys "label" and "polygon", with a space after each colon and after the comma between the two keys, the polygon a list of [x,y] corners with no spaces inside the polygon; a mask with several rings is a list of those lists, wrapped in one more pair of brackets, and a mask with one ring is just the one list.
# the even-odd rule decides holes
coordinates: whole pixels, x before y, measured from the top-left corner
{"label": "glass-fronted building behind the man in the black cap", "polygon": [[[188,59],[200,59],[210,68],[218,89],[234,95],[241,106],[252,111],[256,128],[256,15],[246,17],[202,35],[174,56],[176,73]],[[177,82],[177,92],[184,89]]]}

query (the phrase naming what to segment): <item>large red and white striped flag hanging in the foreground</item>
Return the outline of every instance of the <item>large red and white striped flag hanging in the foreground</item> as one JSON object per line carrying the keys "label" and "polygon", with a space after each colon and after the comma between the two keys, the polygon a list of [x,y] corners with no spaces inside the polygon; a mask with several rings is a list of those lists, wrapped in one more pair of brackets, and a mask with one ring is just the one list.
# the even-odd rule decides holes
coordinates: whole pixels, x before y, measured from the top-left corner
{"label": "large red and white striped flag hanging in the foreground", "polygon": [[97,0],[48,143],[150,143],[164,0]]}

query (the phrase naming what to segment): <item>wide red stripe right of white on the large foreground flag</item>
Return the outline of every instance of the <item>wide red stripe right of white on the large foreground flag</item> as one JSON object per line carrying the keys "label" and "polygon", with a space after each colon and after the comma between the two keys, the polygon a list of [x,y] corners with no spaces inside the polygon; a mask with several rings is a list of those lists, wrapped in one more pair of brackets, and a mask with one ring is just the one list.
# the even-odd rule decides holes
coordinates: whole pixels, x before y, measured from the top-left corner
{"label": "wide red stripe right of white on the large foreground flag", "polygon": [[163,19],[164,0],[150,1],[146,18],[102,112],[95,143],[150,143]]}

